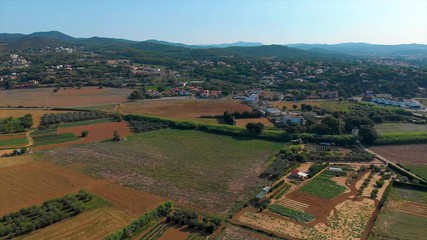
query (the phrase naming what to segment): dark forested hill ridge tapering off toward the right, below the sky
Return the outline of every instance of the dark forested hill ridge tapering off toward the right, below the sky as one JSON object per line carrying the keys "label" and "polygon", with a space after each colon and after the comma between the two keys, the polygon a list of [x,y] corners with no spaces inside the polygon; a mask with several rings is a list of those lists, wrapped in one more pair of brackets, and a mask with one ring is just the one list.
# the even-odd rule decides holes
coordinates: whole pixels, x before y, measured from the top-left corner
{"label": "dark forested hill ridge tapering off toward the right, below the sky", "polygon": [[[223,56],[244,57],[279,57],[284,59],[329,59],[344,57],[343,54],[322,53],[295,49],[281,45],[260,45],[261,43],[239,42],[220,45],[185,45],[164,41],[130,41],[114,38],[73,38],[66,34],[52,31],[29,35],[0,34],[0,50],[3,53],[31,48],[81,46],[99,54],[114,53],[123,57],[136,58],[141,55],[170,57],[173,59],[212,59]],[[210,47],[211,46],[211,47]],[[226,46],[226,47],[224,47]]]}

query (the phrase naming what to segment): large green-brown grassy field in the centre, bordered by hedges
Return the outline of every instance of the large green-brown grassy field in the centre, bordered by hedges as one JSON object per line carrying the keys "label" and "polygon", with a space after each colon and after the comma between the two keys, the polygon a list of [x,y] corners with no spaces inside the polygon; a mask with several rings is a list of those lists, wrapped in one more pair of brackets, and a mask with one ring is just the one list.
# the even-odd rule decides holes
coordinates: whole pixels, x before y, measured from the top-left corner
{"label": "large green-brown grassy field in the centre, bordered by hedges", "polygon": [[135,134],[124,143],[57,149],[48,158],[94,177],[114,178],[127,186],[224,213],[267,184],[257,176],[282,146],[164,129]]}

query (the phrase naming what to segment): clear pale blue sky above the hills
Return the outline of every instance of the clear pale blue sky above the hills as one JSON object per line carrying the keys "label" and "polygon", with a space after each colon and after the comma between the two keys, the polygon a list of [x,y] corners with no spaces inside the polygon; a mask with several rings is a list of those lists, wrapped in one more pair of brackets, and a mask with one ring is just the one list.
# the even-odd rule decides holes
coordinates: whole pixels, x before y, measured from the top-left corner
{"label": "clear pale blue sky above the hills", "polygon": [[0,0],[0,32],[186,44],[427,44],[427,0]]}

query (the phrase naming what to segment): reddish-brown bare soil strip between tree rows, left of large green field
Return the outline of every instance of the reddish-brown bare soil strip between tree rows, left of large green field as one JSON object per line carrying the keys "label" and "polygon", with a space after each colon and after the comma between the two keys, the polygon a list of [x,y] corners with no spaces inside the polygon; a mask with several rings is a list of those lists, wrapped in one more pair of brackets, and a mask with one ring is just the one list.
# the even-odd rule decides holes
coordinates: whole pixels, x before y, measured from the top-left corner
{"label": "reddish-brown bare soil strip between tree rows, left of large green field", "polygon": [[36,146],[33,148],[33,151],[69,147],[76,144],[92,143],[92,142],[108,140],[113,138],[114,131],[117,131],[121,137],[127,137],[132,134],[130,132],[127,122],[125,121],[106,122],[106,123],[97,123],[97,124],[91,124],[91,125],[85,125],[85,126],[58,128],[57,133],[58,134],[73,133],[75,136],[80,136],[82,131],[84,130],[89,131],[89,135],[87,137],[79,138],[76,141],[49,144],[44,146]]}

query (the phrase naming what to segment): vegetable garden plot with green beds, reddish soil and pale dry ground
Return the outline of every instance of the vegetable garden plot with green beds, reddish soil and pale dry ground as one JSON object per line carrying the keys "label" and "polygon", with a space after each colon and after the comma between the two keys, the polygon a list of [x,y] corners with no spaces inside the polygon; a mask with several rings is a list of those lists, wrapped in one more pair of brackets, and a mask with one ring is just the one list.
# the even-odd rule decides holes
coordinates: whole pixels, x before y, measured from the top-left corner
{"label": "vegetable garden plot with green beds, reddish soil and pale dry ground", "polygon": [[[359,183],[370,174],[362,171],[351,177],[353,166],[345,168],[349,169],[348,177],[322,172],[296,183],[289,193],[278,199],[271,197],[267,210],[248,207],[233,217],[232,222],[291,239],[366,238],[378,200],[355,197]],[[375,177],[380,176],[375,174]],[[350,179],[353,181],[347,181]],[[382,193],[380,190],[379,194]]]}

